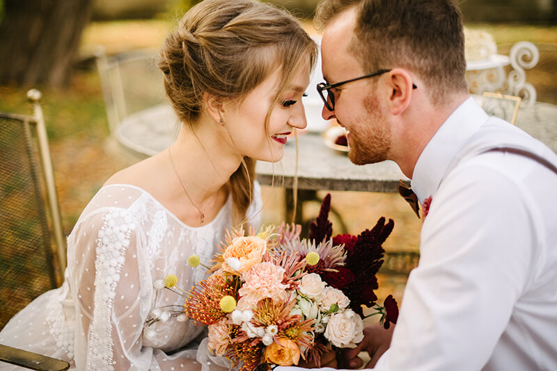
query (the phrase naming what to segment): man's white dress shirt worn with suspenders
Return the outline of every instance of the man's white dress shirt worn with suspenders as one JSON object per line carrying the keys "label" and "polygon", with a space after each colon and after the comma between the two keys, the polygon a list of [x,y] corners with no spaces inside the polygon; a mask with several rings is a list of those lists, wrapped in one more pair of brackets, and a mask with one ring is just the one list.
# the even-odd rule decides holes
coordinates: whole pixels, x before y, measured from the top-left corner
{"label": "man's white dress shirt worn with suspenders", "polygon": [[421,258],[375,370],[557,370],[557,174],[489,142],[557,164],[473,99],[446,120],[414,169]]}

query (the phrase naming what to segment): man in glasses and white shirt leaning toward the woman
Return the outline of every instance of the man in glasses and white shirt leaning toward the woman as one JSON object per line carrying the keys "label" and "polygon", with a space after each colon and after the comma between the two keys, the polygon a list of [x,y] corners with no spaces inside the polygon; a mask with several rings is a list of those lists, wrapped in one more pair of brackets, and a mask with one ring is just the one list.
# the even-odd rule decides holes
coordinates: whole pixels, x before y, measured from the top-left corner
{"label": "man in glasses and white shirt leaning toward the woman", "polygon": [[323,117],[426,206],[392,339],[369,327],[346,367],[557,370],[557,156],[469,97],[455,3],[323,0],[317,20]]}

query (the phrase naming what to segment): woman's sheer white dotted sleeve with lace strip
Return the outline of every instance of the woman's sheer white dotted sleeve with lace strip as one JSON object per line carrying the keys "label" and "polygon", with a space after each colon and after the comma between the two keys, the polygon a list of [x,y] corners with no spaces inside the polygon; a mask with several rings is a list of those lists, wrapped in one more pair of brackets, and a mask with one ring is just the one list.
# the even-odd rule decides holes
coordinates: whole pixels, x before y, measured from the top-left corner
{"label": "woman's sheer white dotted sleeve with lace strip", "polygon": [[[70,284],[76,305],[78,370],[148,370],[152,349],[143,347],[143,323],[153,295],[141,228],[130,212],[93,213],[74,231]],[[143,272],[143,274],[140,274]]]}

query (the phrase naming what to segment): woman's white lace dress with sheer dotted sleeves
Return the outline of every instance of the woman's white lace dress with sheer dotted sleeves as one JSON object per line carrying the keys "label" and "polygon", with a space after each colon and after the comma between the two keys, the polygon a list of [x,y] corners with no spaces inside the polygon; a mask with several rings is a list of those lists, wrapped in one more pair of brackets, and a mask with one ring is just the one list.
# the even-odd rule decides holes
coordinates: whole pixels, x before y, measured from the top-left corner
{"label": "woman's white lace dress with sheer dotted sleeves", "polygon": [[[247,216],[258,227],[257,182],[253,190]],[[17,313],[0,343],[63,359],[70,370],[191,370],[185,358],[210,370],[215,360],[207,358],[206,340],[199,345],[203,327],[175,317],[149,327],[146,321],[156,308],[183,308],[184,297],[153,283],[175,274],[189,290],[203,279],[205,269],[190,267],[187,258],[196,254],[207,264],[232,224],[231,210],[229,197],[212,222],[193,228],[141,188],[102,188],[68,237],[63,286]]]}

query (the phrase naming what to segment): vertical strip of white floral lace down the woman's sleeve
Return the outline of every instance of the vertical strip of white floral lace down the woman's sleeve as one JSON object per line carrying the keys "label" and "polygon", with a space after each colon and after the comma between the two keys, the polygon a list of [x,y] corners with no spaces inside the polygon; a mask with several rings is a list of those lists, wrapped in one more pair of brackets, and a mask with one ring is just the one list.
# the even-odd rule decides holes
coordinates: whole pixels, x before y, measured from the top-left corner
{"label": "vertical strip of white floral lace down the woman's sleeve", "polygon": [[113,371],[112,321],[116,284],[125,261],[134,228],[132,217],[123,210],[113,210],[103,218],[95,259],[95,298],[91,338],[88,347],[87,370]]}

